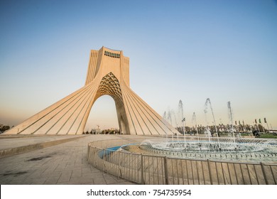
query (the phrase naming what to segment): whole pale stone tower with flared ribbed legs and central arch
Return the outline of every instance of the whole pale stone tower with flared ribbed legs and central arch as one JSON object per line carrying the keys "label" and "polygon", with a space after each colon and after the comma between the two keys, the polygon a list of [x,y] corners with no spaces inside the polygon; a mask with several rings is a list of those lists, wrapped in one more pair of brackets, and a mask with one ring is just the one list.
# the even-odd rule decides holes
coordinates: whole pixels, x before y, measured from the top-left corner
{"label": "whole pale stone tower with flared ribbed legs and central arch", "polygon": [[123,51],[91,50],[85,86],[33,115],[5,134],[82,134],[94,102],[109,95],[123,134],[178,134],[129,85],[129,58]]}

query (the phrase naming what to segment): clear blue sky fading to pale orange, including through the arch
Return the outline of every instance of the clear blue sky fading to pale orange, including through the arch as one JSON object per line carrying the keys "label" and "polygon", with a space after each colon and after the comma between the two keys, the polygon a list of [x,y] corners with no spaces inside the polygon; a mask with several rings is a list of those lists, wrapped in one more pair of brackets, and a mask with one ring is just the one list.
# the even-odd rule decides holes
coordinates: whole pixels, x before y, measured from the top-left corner
{"label": "clear blue sky fading to pale orange, including through the arch", "polygon": [[[16,125],[85,84],[89,50],[130,58],[131,88],[159,114],[183,101],[188,125],[216,122],[277,129],[277,2],[0,1],[0,124]],[[210,124],[212,119],[209,118]],[[111,97],[89,127],[117,127]]]}

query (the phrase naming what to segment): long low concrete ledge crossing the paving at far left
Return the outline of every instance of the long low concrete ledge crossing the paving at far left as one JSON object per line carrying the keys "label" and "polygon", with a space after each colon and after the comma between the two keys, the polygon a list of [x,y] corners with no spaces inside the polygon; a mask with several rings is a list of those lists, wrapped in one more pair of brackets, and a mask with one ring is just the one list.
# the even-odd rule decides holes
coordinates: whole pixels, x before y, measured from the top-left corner
{"label": "long low concrete ledge crossing the paving at far left", "polygon": [[22,154],[22,153],[37,150],[37,149],[43,149],[45,147],[55,146],[55,145],[58,145],[58,144],[63,144],[67,141],[73,141],[75,139],[80,139],[80,138],[83,138],[83,137],[84,136],[77,136],[77,137],[68,138],[68,139],[47,141],[47,142],[43,142],[43,143],[39,143],[39,144],[31,144],[31,145],[28,145],[28,146],[19,146],[19,147],[16,147],[16,148],[4,149],[4,150],[0,151],[0,158],[4,158],[4,157],[7,157],[7,156],[13,156],[13,155],[16,155],[16,154]]}

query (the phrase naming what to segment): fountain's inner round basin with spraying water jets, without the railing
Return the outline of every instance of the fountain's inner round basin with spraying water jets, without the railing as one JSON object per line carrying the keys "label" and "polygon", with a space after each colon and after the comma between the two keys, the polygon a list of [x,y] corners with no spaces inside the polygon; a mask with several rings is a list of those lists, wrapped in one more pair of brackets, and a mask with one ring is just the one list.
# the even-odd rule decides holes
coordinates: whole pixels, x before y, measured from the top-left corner
{"label": "fountain's inner round basin with spraying water jets, without the railing", "polygon": [[[212,113],[216,136],[212,136],[210,128],[205,128],[205,136],[200,136],[197,130],[195,112],[192,114],[192,125],[195,125],[196,136],[172,137],[171,140],[158,138],[145,140],[139,144],[139,149],[151,154],[175,156],[178,158],[220,159],[227,161],[277,161],[277,142],[268,139],[244,139],[234,136],[231,102],[227,102],[231,136],[219,137],[214,119],[210,98],[205,102],[207,122],[208,108]],[[179,109],[183,117],[183,103],[180,100]]]}

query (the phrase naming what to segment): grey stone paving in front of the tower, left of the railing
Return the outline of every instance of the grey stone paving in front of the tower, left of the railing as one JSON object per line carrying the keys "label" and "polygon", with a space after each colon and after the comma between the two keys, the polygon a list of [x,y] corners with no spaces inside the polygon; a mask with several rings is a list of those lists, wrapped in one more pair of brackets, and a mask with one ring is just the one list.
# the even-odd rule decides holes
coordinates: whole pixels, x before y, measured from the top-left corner
{"label": "grey stone paving in front of the tower, left of the railing", "polygon": [[[71,137],[64,136],[64,139]],[[1,137],[0,149],[61,138],[62,136],[13,139]],[[119,135],[83,135],[82,138],[67,143],[0,158],[0,184],[134,184],[103,173],[87,162],[87,144],[89,142],[120,138]]]}

